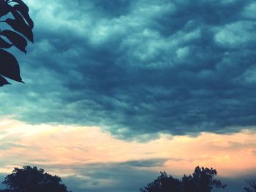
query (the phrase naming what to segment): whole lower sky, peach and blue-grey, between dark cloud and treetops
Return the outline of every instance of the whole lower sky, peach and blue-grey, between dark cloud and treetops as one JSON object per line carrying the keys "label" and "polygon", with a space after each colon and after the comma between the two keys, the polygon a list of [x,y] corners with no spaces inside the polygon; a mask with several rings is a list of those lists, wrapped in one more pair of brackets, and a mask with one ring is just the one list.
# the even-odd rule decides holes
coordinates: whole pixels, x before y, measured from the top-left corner
{"label": "whole lower sky, peach and blue-grey, between dark cloud and treetops", "polygon": [[30,165],[59,175],[75,192],[133,192],[160,171],[181,177],[200,165],[217,169],[229,184],[227,191],[241,191],[244,179],[253,178],[256,170],[256,132],[251,130],[127,142],[97,127],[31,126],[0,119],[0,132],[0,182],[14,167]]}

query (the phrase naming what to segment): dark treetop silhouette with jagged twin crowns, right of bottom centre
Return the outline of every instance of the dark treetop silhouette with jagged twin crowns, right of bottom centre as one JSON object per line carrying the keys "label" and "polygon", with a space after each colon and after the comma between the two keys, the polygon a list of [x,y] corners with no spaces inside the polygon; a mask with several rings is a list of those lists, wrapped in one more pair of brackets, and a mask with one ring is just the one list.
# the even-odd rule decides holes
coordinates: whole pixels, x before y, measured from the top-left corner
{"label": "dark treetop silhouette with jagged twin crowns, right of bottom centre", "polygon": [[213,177],[217,175],[215,169],[200,168],[197,166],[195,172],[191,175],[184,175],[182,180],[167,176],[165,172],[157,177],[152,183],[144,188],[140,188],[140,192],[210,192],[212,188],[225,188],[220,180]]}

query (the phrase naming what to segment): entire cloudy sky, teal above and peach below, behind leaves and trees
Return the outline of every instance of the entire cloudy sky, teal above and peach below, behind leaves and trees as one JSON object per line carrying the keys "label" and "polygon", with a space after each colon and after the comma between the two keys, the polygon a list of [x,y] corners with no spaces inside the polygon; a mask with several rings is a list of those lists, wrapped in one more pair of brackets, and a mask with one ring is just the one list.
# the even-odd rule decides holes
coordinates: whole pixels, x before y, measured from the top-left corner
{"label": "entire cloudy sky, teal above and peach below, behind leaves and trees", "polygon": [[24,0],[26,84],[0,91],[0,179],[38,166],[73,192],[135,192],[160,171],[256,178],[256,2]]}

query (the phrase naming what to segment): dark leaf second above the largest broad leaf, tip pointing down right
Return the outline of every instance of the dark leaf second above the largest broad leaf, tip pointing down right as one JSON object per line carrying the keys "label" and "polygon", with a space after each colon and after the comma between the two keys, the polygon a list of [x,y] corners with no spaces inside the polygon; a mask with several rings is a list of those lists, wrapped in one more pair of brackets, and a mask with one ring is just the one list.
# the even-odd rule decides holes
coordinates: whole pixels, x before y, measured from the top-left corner
{"label": "dark leaf second above the largest broad leaf, tip pointing down right", "polygon": [[31,28],[26,25],[26,23],[21,20],[15,20],[8,18],[5,20],[5,22],[10,25],[15,31],[20,32],[23,34],[26,38],[29,39],[29,41],[34,42],[34,37]]}

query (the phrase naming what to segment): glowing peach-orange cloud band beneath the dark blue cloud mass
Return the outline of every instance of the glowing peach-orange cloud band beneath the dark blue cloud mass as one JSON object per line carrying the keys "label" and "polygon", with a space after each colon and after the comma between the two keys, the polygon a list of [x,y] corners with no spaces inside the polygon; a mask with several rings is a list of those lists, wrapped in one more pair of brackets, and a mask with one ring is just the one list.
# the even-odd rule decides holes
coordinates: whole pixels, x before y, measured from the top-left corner
{"label": "glowing peach-orange cloud band beneath the dark blue cloud mass", "polygon": [[[75,164],[121,163],[154,158],[165,164],[145,169],[169,174],[191,173],[195,166],[213,166],[222,176],[236,176],[256,168],[256,131],[236,134],[202,133],[198,137],[162,134],[149,142],[113,138],[99,127],[29,125],[0,120],[0,172],[13,166],[70,165],[62,174],[75,174]],[[252,130],[252,129],[251,129]]]}

